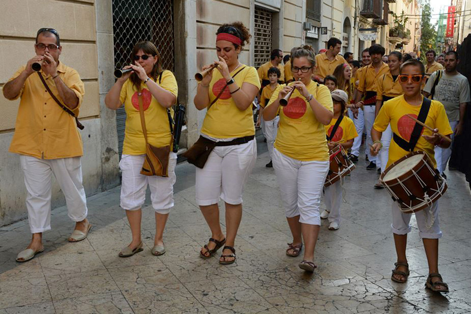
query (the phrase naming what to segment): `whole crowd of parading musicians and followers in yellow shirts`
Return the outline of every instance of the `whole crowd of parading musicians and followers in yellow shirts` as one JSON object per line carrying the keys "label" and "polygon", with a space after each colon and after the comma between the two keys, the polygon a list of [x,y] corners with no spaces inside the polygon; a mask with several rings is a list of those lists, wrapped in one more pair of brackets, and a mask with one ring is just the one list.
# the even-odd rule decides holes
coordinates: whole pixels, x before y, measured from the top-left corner
{"label": "whole crowd of parading musicians and followers in yellow shirts", "polygon": [[[238,59],[250,38],[241,22],[219,27],[217,59],[202,67],[207,74],[198,83],[194,98],[196,108],[206,112],[200,138],[185,156],[197,166],[196,200],[211,232],[200,256],[211,258],[222,248],[220,264],[236,261],[243,188],[257,157],[255,126],[261,125],[269,150],[267,167],[274,168],[292,234],[286,255],[297,257],[303,251],[299,267],[313,272],[320,220],[328,219],[331,231],[338,230],[341,223],[342,181],[324,185],[331,173],[333,151],[345,153],[347,160],[356,163],[363,142],[369,161],[366,169],[383,174],[410,152],[423,151],[437,167],[437,178],[446,178],[443,171],[450,158],[450,142],[460,134],[470,102],[469,84],[456,71],[459,58],[455,51],[443,56],[441,66],[431,50],[424,66],[409,54],[392,51],[386,55],[384,47],[373,44],[362,51],[361,60],[353,60],[351,52],[339,54],[342,42],[334,37],[318,54],[310,46],[294,47],[288,58],[282,50],[273,50],[270,60],[257,70]],[[35,56],[3,87],[7,99],[20,98],[10,151],[20,156],[33,234],[29,246],[17,255],[18,262],[31,260],[44,250],[42,233],[50,230],[52,174],[66,196],[69,217],[76,222],[68,240],[83,240],[91,228],[82,184],[82,140],[75,119],[84,84],[77,71],[59,62],[62,46],[57,31],[40,29],[34,49]],[[132,239],[118,252],[123,258],[143,250],[141,208],[148,185],[156,226],[151,254],[165,254],[166,222],[171,208],[178,206],[173,201],[173,184],[178,178],[170,114],[178,95],[177,81],[171,71],[162,68],[159,52],[149,41],[136,43],[131,59],[133,63],[123,68],[123,75],[105,98],[110,110],[124,106],[127,114],[119,162],[120,206],[126,212]],[[37,72],[35,63],[41,65]],[[254,99],[260,105],[255,126]],[[421,123],[414,124],[407,115]],[[146,163],[162,171],[146,174]],[[385,184],[379,181],[374,187],[384,188]],[[322,198],[326,210],[321,213]],[[225,206],[225,231],[219,222],[219,199]],[[391,280],[405,282],[411,213],[402,211],[400,205],[397,200],[392,202],[397,263]],[[437,265],[442,236],[438,203],[427,203],[415,215],[429,264],[426,286],[448,292]]]}

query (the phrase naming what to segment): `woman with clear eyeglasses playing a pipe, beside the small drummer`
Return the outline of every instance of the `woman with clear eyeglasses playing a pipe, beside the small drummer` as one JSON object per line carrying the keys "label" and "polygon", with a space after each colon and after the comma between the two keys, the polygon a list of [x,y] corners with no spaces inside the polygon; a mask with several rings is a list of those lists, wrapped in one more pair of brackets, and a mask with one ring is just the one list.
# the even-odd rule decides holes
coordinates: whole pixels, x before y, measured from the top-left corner
{"label": "woman with clear eyeglasses playing a pipe, beside the small drummer", "polygon": [[[277,113],[280,115],[273,168],[293,235],[286,255],[298,256],[304,239],[304,257],[299,267],[313,272],[316,268],[314,248],[320,229],[320,196],[329,171],[324,126],[332,120],[333,104],[327,86],[311,80],[316,65],[314,52],[300,48],[293,52],[291,61],[296,81],[278,86],[263,117],[269,121]],[[280,100],[293,89],[286,107],[280,107]]]}

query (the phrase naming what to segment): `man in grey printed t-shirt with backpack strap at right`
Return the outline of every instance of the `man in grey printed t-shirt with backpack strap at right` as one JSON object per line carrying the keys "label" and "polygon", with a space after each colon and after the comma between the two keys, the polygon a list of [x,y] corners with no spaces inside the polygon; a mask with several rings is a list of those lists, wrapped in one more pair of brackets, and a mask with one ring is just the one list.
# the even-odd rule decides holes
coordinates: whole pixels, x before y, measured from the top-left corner
{"label": "man in grey printed t-shirt with backpack strap at right", "polygon": [[[439,71],[434,72],[427,81],[423,94],[425,97],[440,101],[445,106],[445,111],[450,121],[450,126],[455,135],[459,135],[463,129],[466,105],[470,99],[470,85],[468,79],[456,71],[458,65],[458,53],[456,51],[448,51],[445,55],[445,70],[439,79],[435,91],[432,94],[432,87],[436,81]],[[451,147],[448,149],[435,148],[435,159],[437,161],[437,169],[443,174],[446,164],[452,154]]]}

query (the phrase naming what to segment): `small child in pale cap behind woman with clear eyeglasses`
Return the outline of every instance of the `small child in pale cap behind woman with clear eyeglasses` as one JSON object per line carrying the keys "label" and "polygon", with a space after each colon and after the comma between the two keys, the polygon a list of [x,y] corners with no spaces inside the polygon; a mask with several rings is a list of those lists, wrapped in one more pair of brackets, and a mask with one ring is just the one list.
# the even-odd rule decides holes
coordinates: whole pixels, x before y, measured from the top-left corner
{"label": "small child in pale cap behind woman with clear eyeglasses", "polygon": [[[336,89],[332,91],[334,103],[334,117],[330,124],[325,126],[327,146],[329,151],[339,145],[345,151],[352,147],[353,139],[358,136],[355,125],[348,116],[345,116],[348,95],[345,91]],[[321,219],[329,218],[329,230],[337,230],[340,226],[340,203],[342,201],[342,186],[340,180],[324,188],[324,202],[326,209],[320,214]]]}

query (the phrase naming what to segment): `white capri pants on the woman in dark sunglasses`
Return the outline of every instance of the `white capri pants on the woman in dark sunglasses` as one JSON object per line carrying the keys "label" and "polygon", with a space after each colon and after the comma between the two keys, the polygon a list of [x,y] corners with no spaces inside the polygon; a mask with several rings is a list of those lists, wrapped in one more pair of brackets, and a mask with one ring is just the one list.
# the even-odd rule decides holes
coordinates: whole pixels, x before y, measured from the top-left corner
{"label": "white capri pants on the woman in dark sunglasses", "polygon": [[147,184],[151,190],[152,208],[159,214],[168,214],[173,207],[173,184],[175,184],[175,165],[177,154],[170,152],[168,160],[168,177],[145,176],[140,174],[146,155],[121,156],[119,168],[121,169],[121,208],[134,211],[144,205],[146,201]]}

